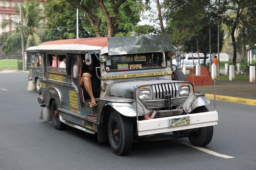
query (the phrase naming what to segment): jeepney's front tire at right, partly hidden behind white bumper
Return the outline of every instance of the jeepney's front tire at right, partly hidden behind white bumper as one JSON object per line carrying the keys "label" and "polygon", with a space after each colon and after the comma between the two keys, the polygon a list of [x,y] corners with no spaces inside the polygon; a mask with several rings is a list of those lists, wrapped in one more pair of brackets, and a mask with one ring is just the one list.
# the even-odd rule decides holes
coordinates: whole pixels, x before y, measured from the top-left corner
{"label": "jeepney's front tire at right, partly hidden behind white bumper", "polygon": [[[191,113],[208,112],[209,110],[205,106],[199,106],[195,108]],[[197,131],[192,132],[189,135],[189,141],[194,146],[206,146],[208,145],[213,136],[213,126],[201,127]]]}

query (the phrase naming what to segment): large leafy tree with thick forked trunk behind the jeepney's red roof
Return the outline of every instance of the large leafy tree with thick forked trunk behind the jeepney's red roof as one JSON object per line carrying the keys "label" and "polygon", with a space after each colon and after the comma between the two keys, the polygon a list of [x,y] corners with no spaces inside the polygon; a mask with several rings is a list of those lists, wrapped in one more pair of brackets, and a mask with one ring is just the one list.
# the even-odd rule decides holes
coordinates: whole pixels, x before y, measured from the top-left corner
{"label": "large leafy tree with thick forked trunk behind the jeepney's red roof", "polygon": [[[72,38],[76,31],[76,8],[79,9],[79,37],[130,35],[140,21],[141,0],[93,1],[48,0],[48,39]],[[64,34],[62,34],[64,33]]]}

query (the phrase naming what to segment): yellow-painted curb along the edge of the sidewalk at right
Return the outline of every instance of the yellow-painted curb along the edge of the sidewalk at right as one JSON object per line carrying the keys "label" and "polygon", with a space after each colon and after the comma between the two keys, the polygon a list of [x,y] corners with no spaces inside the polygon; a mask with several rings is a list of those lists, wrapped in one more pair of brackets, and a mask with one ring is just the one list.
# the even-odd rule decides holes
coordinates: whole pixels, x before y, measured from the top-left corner
{"label": "yellow-painted curb along the edge of the sidewalk at right", "polygon": [[[207,97],[208,99],[214,99],[214,95],[211,95],[211,94],[205,94],[205,97]],[[256,106],[256,100],[254,100],[254,99],[244,99],[244,98],[240,98],[240,97],[216,95],[216,100],[242,103],[242,104]]]}

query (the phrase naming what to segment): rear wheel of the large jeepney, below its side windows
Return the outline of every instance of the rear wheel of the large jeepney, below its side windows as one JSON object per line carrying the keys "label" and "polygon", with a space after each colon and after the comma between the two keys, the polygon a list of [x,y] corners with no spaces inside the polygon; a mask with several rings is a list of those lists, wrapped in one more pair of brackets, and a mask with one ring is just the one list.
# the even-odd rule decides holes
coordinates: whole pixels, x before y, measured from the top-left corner
{"label": "rear wheel of the large jeepney, below its side windows", "polygon": [[65,127],[65,124],[60,121],[60,114],[57,108],[58,108],[58,104],[56,100],[53,99],[52,105],[51,105],[52,123],[55,129],[63,130]]}

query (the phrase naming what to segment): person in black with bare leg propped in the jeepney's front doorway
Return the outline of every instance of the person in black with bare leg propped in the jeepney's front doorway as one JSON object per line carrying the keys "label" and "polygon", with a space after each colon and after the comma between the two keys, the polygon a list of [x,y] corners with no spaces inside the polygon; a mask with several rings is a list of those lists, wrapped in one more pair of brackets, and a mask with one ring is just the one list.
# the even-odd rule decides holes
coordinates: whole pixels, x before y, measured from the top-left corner
{"label": "person in black with bare leg propped in the jeepney's front doorway", "polygon": [[90,107],[97,105],[95,98],[99,98],[101,94],[101,80],[97,77],[94,60],[95,58],[93,57],[85,57],[80,79],[84,98],[91,99],[91,102],[89,102]]}

